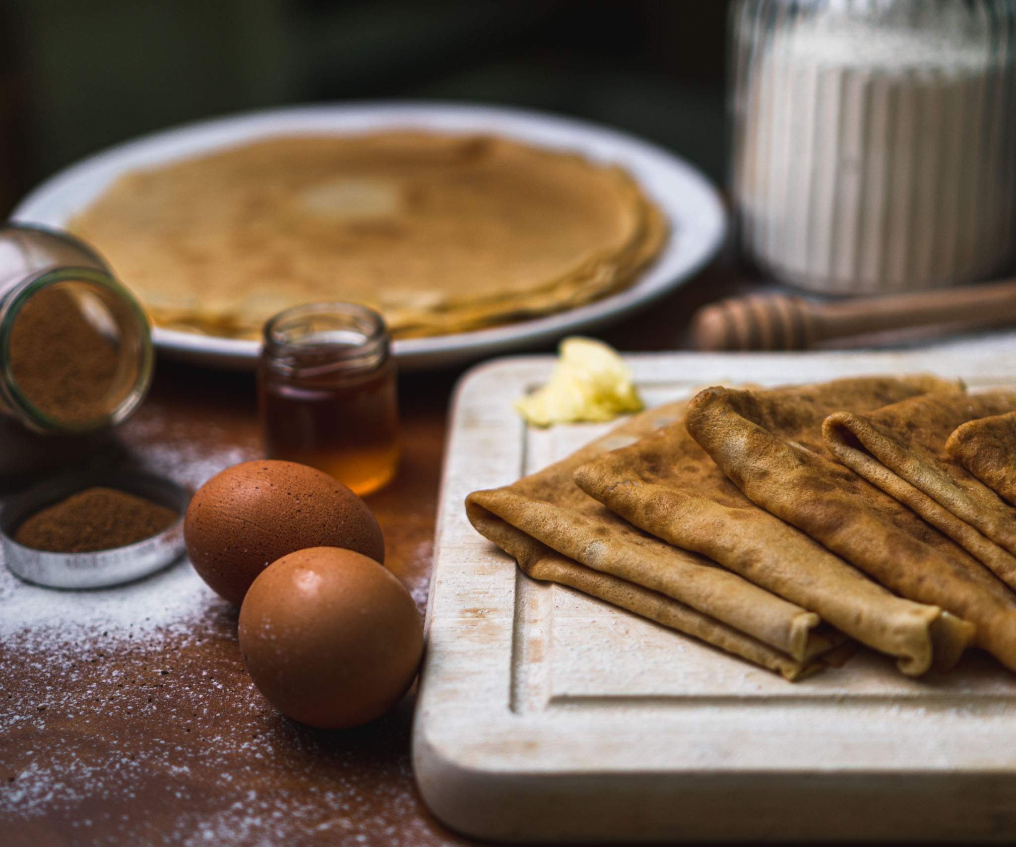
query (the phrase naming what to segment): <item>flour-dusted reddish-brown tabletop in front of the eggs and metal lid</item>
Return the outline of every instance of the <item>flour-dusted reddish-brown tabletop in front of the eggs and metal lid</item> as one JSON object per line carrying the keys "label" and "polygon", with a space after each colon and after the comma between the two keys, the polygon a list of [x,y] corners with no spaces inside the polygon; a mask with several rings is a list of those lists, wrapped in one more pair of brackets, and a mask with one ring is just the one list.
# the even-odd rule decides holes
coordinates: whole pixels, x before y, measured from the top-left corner
{"label": "flour-dusted reddish-brown tabletop in front of the eggs and metal lid", "polygon": [[[186,560],[88,592],[0,567],[0,820],[125,844],[445,843],[393,754],[411,702],[359,732],[288,721],[243,668],[236,615]],[[379,771],[383,814],[361,802]]]}

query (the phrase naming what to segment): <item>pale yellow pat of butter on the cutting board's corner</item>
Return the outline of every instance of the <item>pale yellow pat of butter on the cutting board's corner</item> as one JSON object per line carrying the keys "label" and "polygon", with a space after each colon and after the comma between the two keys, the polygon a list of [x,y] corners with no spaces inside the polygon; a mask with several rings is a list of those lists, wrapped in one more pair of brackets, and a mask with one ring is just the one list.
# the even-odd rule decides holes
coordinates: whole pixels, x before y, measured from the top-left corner
{"label": "pale yellow pat of butter on the cutting board's corner", "polygon": [[550,381],[515,401],[529,423],[609,421],[644,408],[631,372],[613,348],[592,339],[570,338],[561,343],[559,353]]}

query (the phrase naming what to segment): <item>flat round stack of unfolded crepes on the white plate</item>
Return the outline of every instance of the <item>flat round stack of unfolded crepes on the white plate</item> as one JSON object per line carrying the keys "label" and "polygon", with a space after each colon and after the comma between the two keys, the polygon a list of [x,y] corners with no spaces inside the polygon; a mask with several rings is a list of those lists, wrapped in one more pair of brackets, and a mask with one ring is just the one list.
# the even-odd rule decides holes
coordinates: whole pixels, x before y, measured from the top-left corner
{"label": "flat round stack of unfolded crepes on the white plate", "polygon": [[489,136],[279,136],[128,173],[70,224],[158,325],[257,338],[293,305],[396,338],[570,309],[631,284],[666,226],[618,167]]}

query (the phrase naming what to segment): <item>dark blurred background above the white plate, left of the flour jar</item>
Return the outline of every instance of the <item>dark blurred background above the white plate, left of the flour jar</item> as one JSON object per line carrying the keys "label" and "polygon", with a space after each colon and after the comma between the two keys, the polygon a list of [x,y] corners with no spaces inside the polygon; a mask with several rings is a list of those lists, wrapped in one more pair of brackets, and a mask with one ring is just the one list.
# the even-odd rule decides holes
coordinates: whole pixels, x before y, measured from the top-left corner
{"label": "dark blurred background above the white plate, left of the flour jar", "polygon": [[140,133],[321,101],[543,109],[635,132],[722,181],[727,6],[0,0],[0,210]]}

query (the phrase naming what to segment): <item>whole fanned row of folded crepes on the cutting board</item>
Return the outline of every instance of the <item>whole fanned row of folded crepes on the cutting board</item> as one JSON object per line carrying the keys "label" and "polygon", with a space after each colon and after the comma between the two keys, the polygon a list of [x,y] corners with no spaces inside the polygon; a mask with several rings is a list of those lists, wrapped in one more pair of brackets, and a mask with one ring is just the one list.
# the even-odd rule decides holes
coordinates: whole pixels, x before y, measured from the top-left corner
{"label": "whole fanned row of folded crepes on the cutting board", "polygon": [[854,644],[1016,669],[1016,395],[708,388],[466,500],[529,576],[799,679]]}

